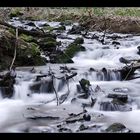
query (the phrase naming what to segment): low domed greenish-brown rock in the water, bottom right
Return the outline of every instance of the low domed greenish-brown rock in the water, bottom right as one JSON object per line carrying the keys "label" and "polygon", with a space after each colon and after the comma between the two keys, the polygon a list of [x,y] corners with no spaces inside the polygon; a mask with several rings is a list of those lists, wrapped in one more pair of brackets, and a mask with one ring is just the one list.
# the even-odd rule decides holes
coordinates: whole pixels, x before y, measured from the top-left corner
{"label": "low domed greenish-brown rock in the water, bottom right", "polygon": [[118,131],[123,131],[124,129],[126,129],[126,127],[121,124],[121,123],[113,123],[112,125],[110,125],[106,131],[107,132],[118,132]]}

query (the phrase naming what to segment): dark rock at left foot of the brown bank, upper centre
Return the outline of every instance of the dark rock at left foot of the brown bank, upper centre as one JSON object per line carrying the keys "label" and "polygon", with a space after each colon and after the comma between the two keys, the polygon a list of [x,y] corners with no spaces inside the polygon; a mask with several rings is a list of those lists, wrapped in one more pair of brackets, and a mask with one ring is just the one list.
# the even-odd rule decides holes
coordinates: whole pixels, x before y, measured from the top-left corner
{"label": "dark rock at left foot of the brown bank, upper centre", "polygon": [[73,25],[72,29],[68,31],[68,34],[81,34],[84,28],[80,25]]}

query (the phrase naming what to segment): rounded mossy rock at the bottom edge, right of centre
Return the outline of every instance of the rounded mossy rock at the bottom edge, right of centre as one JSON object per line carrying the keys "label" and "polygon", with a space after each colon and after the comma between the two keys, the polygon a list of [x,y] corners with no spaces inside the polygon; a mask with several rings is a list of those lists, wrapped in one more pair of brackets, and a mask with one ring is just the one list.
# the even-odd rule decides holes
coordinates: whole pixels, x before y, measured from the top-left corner
{"label": "rounded mossy rock at the bottom edge, right of centre", "polygon": [[[126,131],[128,130],[128,131]],[[113,123],[106,130],[106,132],[114,133],[114,132],[127,132],[130,133],[131,130],[127,129],[125,125],[121,123]]]}

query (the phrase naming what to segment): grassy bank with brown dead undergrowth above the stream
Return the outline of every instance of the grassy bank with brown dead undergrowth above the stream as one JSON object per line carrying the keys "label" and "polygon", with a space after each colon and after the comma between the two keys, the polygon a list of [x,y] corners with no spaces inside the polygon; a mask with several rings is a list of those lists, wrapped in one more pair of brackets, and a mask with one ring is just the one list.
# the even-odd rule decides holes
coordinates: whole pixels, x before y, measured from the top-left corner
{"label": "grassy bank with brown dead undergrowth above the stream", "polygon": [[[21,10],[21,9],[18,9]],[[61,8],[22,8],[25,17],[49,21],[67,21],[84,24],[89,31],[118,33],[140,32],[140,8],[96,8],[96,7],[61,7]]]}

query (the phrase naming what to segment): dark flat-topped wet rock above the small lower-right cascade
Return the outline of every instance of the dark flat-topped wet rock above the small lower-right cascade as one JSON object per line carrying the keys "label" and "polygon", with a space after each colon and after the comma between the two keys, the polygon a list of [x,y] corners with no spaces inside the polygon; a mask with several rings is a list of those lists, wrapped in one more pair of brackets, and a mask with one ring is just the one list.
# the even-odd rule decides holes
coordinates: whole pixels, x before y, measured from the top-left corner
{"label": "dark flat-topped wet rock above the small lower-right cascade", "polygon": [[128,95],[123,95],[123,94],[108,94],[107,97],[120,100],[123,103],[127,103],[128,101]]}

